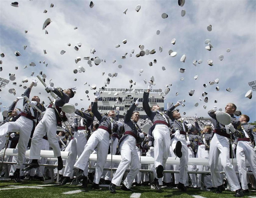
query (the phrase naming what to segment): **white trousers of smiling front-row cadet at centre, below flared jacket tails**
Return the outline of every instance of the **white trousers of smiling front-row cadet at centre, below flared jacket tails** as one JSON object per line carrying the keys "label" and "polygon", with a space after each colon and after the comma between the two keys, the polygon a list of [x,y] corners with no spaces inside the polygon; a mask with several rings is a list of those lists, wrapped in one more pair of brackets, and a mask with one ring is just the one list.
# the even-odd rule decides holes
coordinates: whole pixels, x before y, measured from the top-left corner
{"label": "white trousers of smiling front-row cadet at centre, below flared jacket tails", "polygon": [[137,173],[139,172],[139,156],[136,151],[136,139],[131,136],[127,135],[125,139],[120,143],[120,151],[121,151],[121,162],[116,170],[116,173],[112,179],[112,183],[116,186],[120,186],[121,180],[123,178],[123,174],[125,170],[130,165],[130,171],[126,176],[123,184],[126,188],[131,188],[133,179],[136,177]]}

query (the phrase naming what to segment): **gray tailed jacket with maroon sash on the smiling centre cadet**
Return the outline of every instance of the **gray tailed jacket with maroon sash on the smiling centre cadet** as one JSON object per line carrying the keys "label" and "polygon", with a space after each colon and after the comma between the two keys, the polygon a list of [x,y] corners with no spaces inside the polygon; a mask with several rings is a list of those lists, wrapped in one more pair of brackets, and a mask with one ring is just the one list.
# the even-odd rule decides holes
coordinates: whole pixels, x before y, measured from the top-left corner
{"label": "gray tailed jacket with maroon sash on the smiling centre cadet", "polygon": [[[142,143],[143,139],[140,138],[139,133],[142,133],[140,127],[137,125],[136,122],[131,120],[132,114],[134,109],[136,108],[136,104],[133,103],[130,108],[127,110],[126,115],[124,116],[124,130],[125,132],[131,132],[133,133],[133,137],[136,139],[136,141],[138,143]],[[125,134],[121,140],[119,141],[119,145],[120,143],[125,139],[126,136],[128,136],[129,134]]]}

